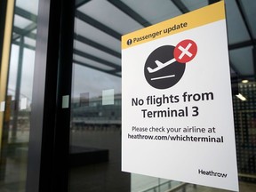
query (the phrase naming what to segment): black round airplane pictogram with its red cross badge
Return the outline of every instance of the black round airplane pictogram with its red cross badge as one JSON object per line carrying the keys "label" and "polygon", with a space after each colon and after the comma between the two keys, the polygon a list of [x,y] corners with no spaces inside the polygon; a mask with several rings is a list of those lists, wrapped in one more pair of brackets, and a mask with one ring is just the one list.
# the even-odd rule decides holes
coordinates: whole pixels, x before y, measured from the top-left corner
{"label": "black round airplane pictogram with its red cross badge", "polygon": [[197,45],[186,39],[176,46],[164,45],[151,52],[146,60],[144,75],[148,84],[156,89],[167,89],[183,76],[186,63],[196,56]]}

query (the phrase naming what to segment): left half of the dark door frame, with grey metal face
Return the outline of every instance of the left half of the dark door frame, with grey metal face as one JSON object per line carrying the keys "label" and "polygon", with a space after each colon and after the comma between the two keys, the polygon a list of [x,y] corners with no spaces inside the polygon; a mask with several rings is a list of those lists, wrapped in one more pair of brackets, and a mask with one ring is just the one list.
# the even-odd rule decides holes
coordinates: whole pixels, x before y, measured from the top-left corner
{"label": "left half of the dark door frame, with grey metal face", "polygon": [[36,29],[26,192],[50,192],[60,36],[59,0],[39,1]]}

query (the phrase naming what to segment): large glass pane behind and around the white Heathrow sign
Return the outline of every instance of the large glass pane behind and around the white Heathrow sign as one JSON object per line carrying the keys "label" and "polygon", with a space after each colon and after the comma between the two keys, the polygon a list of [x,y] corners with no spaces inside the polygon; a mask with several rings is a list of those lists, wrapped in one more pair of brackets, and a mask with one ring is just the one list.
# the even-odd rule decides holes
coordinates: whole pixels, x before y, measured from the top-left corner
{"label": "large glass pane behind and around the white Heathrow sign", "polygon": [[[141,18],[154,24],[178,16],[181,12],[179,5],[175,4],[179,1],[116,2],[84,1],[76,8],[76,12],[80,13],[76,14],[74,28],[70,191],[164,192],[175,188],[177,191],[227,191],[121,172],[121,36],[144,28],[140,23]],[[180,2],[192,11],[212,1]],[[250,1],[244,2],[250,6]],[[248,32],[236,3],[228,1],[226,5],[229,43],[247,40]],[[128,12],[131,10],[132,14]],[[79,36],[83,38],[79,39]],[[252,81],[252,45],[230,51],[230,58],[236,64],[230,71],[235,76],[232,85],[239,186],[242,192],[255,191],[256,186],[252,182],[256,177],[256,125],[253,123],[256,98],[255,83]],[[243,76],[244,72],[246,76]],[[250,83],[240,83],[247,75]],[[238,99],[238,93],[244,95],[247,101]]]}

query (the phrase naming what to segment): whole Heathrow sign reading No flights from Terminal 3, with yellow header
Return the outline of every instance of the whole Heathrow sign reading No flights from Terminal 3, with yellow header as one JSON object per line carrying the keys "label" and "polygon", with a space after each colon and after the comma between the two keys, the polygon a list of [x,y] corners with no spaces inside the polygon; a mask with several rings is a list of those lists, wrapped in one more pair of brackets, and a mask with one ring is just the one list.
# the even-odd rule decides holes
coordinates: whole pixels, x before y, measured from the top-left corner
{"label": "whole Heathrow sign reading No flights from Terminal 3, with yellow header", "polygon": [[224,2],[122,37],[122,170],[238,191]]}

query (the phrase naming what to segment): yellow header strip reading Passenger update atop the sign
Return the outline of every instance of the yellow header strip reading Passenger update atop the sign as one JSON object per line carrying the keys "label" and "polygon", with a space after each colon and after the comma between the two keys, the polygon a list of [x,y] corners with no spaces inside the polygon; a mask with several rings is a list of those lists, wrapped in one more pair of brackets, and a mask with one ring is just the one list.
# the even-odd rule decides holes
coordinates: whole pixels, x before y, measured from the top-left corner
{"label": "yellow header strip reading Passenger update atop the sign", "polygon": [[225,19],[224,1],[122,36],[122,49]]}

